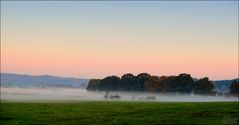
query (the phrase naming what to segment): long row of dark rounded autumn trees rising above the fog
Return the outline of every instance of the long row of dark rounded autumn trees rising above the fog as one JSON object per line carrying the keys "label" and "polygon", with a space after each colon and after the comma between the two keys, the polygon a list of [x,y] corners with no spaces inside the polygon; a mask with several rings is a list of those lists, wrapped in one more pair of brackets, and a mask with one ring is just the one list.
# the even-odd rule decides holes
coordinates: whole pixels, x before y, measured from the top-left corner
{"label": "long row of dark rounded autumn trees rising above the fog", "polygon": [[89,91],[145,91],[145,92],[178,92],[195,94],[213,94],[214,85],[205,77],[194,81],[190,74],[178,76],[151,76],[131,73],[118,76],[108,76],[104,79],[91,79],[88,83]]}

